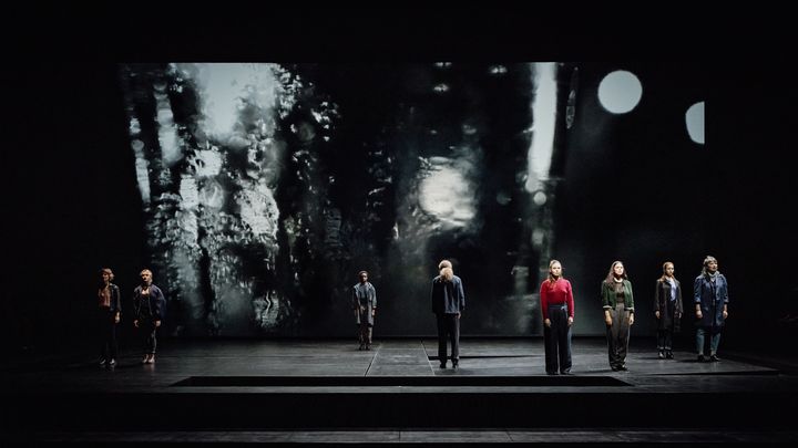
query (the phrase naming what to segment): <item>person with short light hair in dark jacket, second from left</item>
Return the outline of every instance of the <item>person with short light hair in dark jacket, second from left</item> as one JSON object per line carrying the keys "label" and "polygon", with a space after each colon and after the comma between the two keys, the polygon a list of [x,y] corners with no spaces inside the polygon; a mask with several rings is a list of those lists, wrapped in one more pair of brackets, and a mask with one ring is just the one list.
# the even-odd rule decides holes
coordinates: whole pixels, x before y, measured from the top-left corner
{"label": "person with short light hair in dark jacket, second from left", "polygon": [[146,335],[144,338],[144,358],[142,364],[155,363],[157,329],[165,310],[166,299],[161,289],[152,283],[152,271],[141,271],[141,284],[133,290],[133,325]]}

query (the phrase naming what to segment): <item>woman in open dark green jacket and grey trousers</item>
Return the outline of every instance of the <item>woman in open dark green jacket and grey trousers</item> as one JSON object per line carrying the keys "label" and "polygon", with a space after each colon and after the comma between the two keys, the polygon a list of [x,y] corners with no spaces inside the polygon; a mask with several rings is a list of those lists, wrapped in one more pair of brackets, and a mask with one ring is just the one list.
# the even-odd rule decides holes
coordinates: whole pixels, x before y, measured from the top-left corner
{"label": "woman in open dark green jacket and grey trousers", "polygon": [[602,305],[606,323],[610,367],[626,371],[630,327],[634,323],[634,294],[623,262],[614,261],[602,282]]}

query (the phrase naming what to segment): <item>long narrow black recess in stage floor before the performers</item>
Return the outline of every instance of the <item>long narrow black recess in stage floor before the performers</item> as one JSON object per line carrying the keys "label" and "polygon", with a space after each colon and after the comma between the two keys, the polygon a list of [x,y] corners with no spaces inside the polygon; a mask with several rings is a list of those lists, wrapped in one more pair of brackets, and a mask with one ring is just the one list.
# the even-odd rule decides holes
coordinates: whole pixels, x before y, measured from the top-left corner
{"label": "long narrow black recess in stage floor before the performers", "polygon": [[523,386],[617,387],[631,384],[612,376],[190,376],[177,387],[369,387],[369,386]]}

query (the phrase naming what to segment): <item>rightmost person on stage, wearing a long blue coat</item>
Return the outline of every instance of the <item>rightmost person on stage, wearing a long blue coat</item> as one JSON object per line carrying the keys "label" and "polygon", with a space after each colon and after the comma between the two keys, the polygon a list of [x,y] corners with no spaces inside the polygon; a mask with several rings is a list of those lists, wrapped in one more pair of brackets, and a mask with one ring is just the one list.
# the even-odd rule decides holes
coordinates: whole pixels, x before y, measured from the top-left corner
{"label": "rightmost person on stage, wearing a long blue coat", "polygon": [[718,271],[718,262],[715,257],[704,259],[704,268],[700,275],[696,277],[693,284],[693,295],[696,309],[696,346],[698,361],[704,361],[704,341],[708,334],[709,361],[720,361],[717,356],[718,344],[720,343],[720,330],[728,317],[728,283],[726,277]]}

